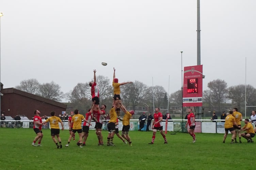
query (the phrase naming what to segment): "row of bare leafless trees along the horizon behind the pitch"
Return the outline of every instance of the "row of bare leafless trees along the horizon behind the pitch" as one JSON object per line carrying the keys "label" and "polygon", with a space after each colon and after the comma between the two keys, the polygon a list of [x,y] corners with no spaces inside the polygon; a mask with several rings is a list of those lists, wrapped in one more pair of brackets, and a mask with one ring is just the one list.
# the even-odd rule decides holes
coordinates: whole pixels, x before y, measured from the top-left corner
{"label": "row of bare leafless trees along the horizon behind the pitch", "polygon": [[[112,105],[113,87],[112,80],[108,77],[98,75],[97,85],[100,90],[100,103],[104,103],[108,108]],[[153,106],[153,96],[155,107],[167,108],[169,106],[181,108],[181,89],[168,96],[162,86],[147,86],[143,82],[135,80],[133,83],[121,87],[121,97],[126,107]],[[234,107],[238,107],[241,112],[245,107],[245,85],[227,87],[224,80],[213,80],[207,84],[208,89],[203,91],[203,105],[216,106],[215,110],[221,112],[225,102],[231,102]],[[75,108],[87,111],[91,106],[91,87],[89,82],[78,83],[73,90],[63,93],[61,86],[54,83],[40,84],[36,79],[28,79],[20,82],[15,88],[35,94],[47,99],[61,101],[67,99],[74,104]],[[252,85],[246,85],[246,105],[255,106],[256,89]]]}

